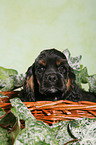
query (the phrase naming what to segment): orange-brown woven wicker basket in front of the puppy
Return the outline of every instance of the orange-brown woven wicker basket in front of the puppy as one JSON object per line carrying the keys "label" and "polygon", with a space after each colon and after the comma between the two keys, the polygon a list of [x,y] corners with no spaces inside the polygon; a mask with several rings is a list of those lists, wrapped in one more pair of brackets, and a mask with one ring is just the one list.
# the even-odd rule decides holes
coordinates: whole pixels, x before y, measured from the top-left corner
{"label": "orange-brown woven wicker basket in front of the puppy", "polygon": [[[96,117],[96,103],[89,101],[78,103],[67,100],[37,101],[24,102],[24,104],[37,120],[42,120],[48,124],[77,118],[93,119]],[[7,111],[10,109],[11,104],[0,103],[0,107]]]}

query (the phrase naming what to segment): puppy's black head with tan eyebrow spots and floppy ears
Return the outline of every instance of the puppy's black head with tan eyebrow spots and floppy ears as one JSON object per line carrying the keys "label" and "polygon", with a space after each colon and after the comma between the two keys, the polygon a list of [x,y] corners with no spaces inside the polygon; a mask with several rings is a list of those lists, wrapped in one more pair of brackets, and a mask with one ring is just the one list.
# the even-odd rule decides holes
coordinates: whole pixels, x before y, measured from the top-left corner
{"label": "puppy's black head with tan eyebrow spots and floppy ears", "polygon": [[[65,55],[48,49],[40,53],[27,71],[26,92],[32,92],[36,100],[58,100],[70,90],[75,75]],[[37,95],[37,96],[36,96]]]}

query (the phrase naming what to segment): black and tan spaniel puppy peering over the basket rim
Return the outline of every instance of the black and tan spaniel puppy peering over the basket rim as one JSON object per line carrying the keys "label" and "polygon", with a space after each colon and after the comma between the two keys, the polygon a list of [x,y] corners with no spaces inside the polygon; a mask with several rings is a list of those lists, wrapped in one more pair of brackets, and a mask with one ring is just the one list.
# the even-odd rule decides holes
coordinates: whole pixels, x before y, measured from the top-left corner
{"label": "black and tan spaniel puppy peering over the basket rim", "polygon": [[96,102],[96,96],[76,85],[73,69],[69,66],[65,55],[56,49],[42,51],[28,68],[21,99]]}

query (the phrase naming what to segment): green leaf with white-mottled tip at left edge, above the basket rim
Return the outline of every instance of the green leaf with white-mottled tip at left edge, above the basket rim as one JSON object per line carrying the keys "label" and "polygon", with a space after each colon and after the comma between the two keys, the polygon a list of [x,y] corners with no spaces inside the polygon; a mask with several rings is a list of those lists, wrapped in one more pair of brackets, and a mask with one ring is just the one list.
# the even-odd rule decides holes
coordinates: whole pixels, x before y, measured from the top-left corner
{"label": "green leaf with white-mottled tip at left edge, above the basket rim", "polygon": [[21,87],[24,79],[25,74],[18,74],[14,69],[0,67],[0,91],[11,91]]}

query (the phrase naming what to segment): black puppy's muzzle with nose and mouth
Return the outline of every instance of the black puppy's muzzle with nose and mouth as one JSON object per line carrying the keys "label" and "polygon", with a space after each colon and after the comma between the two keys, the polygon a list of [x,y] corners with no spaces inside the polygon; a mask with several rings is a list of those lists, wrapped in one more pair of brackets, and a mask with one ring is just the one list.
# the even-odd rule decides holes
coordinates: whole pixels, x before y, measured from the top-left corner
{"label": "black puppy's muzzle with nose and mouth", "polygon": [[40,92],[42,94],[54,94],[64,91],[65,88],[63,76],[58,73],[46,73],[42,79]]}

